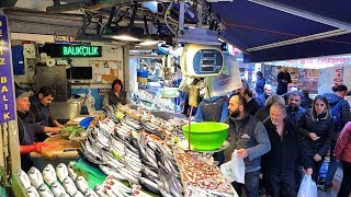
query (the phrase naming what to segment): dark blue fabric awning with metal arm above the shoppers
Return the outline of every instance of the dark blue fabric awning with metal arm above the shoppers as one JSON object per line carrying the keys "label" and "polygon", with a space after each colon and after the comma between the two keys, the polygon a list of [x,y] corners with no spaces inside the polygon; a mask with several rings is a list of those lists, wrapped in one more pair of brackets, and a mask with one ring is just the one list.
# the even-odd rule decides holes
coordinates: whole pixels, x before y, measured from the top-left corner
{"label": "dark blue fabric awning with metal arm above the shoppers", "polygon": [[222,36],[245,51],[245,62],[351,53],[349,0],[234,0],[212,3]]}

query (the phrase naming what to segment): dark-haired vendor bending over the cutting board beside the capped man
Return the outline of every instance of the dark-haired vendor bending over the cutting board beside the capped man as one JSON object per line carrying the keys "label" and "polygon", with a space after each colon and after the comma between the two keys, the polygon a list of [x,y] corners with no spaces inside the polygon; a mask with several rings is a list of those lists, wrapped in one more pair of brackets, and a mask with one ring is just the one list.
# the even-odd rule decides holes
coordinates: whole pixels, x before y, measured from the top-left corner
{"label": "dark-haired vendor bending over the cutting board beside the capped man", "polygon": [[35,123],[34,141],[44,141],[48,132],[58,134],[65,128],[52,117],[49,104],[55,97],[55,91],[49,86],[43,86],[31,97],[30,121]]}

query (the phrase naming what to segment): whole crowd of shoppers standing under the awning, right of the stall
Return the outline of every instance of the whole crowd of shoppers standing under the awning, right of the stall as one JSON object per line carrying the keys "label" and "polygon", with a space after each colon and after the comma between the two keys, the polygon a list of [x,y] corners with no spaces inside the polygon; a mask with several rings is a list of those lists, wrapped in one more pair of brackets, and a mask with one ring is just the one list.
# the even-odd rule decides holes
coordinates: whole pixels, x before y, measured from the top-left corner
{"label": "whole crowd of shoppers standing under the awning, right of the stall", "polygon": [[[296,196],[303,173],[321,183],[318,172],[329,157],[327,178],[321,184],[325,189],[332,186],[338,162],[342,161],[344,175],[338,196],[349,196],[351,118],[349,103],[344,100],[347,86],[336,85],[333,93],[313,100],[308,89],[297,90],[296,85],[288,84],[288,72],[280,73],[279,93],[265,84],[260,72],[257,77],[254,90],[242,82],[245,85],[229,97],[203,101],[195,118],[229,125],[227,141],[230,147],[216,153],[215,159],[219,164],[227,162],[234,150],[244,159],[246,182],[233,183],[238,195],[241,196],[244,189],[248,197],[259,196],[259,192],[273,197]],[[225,107],[228,114],[224,113]]]}

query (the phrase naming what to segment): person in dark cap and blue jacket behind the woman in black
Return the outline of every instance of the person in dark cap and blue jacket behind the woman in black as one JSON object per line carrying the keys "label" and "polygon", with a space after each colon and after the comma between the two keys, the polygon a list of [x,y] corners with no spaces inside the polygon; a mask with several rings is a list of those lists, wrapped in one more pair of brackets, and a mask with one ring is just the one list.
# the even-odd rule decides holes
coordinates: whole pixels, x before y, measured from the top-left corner
{"label": "person in dark cap and blue jacket behind the woman in black", "polygon": [[339,123],[336,123],[335,126],[335,138],[333,141],[331,143],[331,148],[330,148],[330,163],[328,165],[328,171],[327,171],[327,182],[325,184],[325,188],[328,189],[332,186],[332,179],[333,179],[333,175],[337,172],[338,169],[338,162],[336,160],[336,158],[333,157],[333,149],[336,147],[337,143],[337,139],[340,135],[340,131],[342,130],[342,128],[344,127],[344,125],[351,120],[351,115],[350,115],[350,105],[349,103],[344,100],[344,96],[348,93],[348,88],[344,84],[339,84],[333,86],[332,91],[335,93],[325,93],[324,95],[327,97],[328,103],[330,105],[330,108],[332,107],[338,107],[338,111],[340,112],[340,119],[338,119]]}

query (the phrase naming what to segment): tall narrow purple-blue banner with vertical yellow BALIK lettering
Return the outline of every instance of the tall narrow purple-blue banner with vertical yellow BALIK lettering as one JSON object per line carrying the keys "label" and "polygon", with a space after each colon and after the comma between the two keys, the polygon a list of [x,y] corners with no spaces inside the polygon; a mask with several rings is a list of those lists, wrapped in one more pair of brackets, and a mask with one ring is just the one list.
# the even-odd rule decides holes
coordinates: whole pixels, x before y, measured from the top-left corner
{"label": "tall narrow purple-blue banner with vertical yellow BALIK lettering", "polygon": [[15,119],[8,21],[0,14],[0,124]]}

